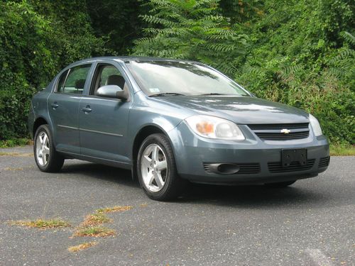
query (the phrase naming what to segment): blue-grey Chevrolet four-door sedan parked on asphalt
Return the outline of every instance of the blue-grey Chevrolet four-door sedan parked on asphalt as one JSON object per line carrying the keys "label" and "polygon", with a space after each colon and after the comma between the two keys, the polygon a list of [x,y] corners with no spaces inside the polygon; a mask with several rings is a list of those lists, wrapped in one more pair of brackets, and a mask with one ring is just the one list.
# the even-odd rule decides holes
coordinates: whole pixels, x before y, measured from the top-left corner
{"label": "blue-grey Chevrolet four-door sedan parked on asphalt", "polygon": [[39,170],[72,158],[121,167],[160,201],[190,182],[287,187],[329,165],[317,118],[187,60],[75,62],[33,96],[28,128]]}

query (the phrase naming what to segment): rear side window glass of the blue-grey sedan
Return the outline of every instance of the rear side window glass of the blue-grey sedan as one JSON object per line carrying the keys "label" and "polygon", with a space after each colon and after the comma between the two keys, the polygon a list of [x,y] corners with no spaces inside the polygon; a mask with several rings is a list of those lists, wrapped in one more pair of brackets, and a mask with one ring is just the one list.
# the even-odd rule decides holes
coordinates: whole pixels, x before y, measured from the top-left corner
{"label": "rear side window glass of the blue-grey sedan", "polygon": [[82,94],[91,65],[72,67],[60,76],[57,92],[62,94]]}

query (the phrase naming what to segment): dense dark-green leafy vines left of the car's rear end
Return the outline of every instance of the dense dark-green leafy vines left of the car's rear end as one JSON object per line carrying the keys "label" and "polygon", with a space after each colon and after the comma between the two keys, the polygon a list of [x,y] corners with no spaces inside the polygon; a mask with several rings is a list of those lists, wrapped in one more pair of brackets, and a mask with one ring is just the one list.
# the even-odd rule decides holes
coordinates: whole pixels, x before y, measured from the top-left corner
{"label": "dense dark-green leafy vines left of the car's rear end", "polygon": [[28,135],[33,94],[64,65],[101,49],[76,2],[0,1],[0,140]]}

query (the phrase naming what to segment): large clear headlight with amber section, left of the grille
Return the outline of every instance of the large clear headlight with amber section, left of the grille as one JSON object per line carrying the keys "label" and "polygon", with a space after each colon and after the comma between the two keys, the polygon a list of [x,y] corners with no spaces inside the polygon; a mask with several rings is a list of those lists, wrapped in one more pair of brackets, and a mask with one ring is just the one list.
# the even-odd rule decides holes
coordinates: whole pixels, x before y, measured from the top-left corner
{"label": "large clear headlight with amber section, left of the grille", "polygon": [[190,116],[185,121],[192,131],[205,138],[245,140],[235,123],[214,116]]}

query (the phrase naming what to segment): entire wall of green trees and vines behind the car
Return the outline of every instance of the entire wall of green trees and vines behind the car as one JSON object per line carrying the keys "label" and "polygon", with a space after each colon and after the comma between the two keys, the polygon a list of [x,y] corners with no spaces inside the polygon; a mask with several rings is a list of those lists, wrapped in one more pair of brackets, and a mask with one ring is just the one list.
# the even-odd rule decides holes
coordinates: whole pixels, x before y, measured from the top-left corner
{"label": "entire wall of green trees and vines behind the car", "polygon": [[351,0],[0,1],[0,140],[26,137],[31,96],[65,65],[133,53],[212,65],[354,145],[354,28]]}

